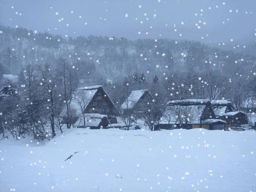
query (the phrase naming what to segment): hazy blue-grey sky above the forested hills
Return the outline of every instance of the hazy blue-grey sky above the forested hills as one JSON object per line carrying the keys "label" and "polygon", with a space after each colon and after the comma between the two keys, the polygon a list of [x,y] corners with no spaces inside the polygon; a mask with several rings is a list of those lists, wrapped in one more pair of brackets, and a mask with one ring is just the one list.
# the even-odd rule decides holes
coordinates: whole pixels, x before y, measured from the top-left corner
{"label": "hazy blue-grey sky above the forested hills", "polygon": [[0,24],[68,36],[235,44],[256,39],[256,0],[0,0]]}

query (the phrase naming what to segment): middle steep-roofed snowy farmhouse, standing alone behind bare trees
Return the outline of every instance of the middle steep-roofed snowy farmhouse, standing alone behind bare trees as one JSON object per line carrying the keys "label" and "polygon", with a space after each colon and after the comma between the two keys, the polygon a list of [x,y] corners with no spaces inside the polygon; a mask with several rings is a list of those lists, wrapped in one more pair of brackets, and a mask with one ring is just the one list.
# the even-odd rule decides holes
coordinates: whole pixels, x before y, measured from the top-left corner
{"label": "middle steep-roofed snowy farmhouse, standing alone behind bare trees", "polygon": [[146,105],[153,99],[151,93],[147,89],[143,90],[133,90],[128,98],[122,103],[120,110],[134,110],[134,113],[139,114],[142,105]]}

